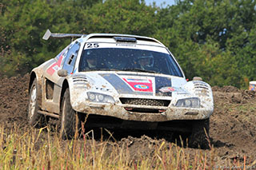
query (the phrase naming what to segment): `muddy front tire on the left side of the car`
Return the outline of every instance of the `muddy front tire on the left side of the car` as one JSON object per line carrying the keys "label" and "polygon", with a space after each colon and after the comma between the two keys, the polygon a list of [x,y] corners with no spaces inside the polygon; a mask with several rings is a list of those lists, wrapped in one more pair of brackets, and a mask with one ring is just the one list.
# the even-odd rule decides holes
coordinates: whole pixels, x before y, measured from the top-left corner
{"label": "muddy front tire on the left side of the car", "polygon": [[60,117],[60,137],[63,140],[72,139],[81,129],[81,114],[72,109],[70,104],[70,90],[66,89],[62,99]]}

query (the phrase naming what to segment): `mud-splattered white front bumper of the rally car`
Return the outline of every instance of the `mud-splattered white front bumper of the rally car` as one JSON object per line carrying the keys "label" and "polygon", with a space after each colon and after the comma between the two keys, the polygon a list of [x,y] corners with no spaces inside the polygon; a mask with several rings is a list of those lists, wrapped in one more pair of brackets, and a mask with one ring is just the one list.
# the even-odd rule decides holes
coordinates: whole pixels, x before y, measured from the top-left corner
{"label": "mud-splattered white front bumper of the rally car", "polygon": [[[148,109],[149,112],[134,112],[136,109]],[[174,121],[174,120],[203,120],[209,118],[213,108],[178,108],[174,106],[148,105],[117,105],[85,102],[73,105],[73,109],[80,113],[117,117],[127,121]],[[150,110],[159,110],[158,113]]]}

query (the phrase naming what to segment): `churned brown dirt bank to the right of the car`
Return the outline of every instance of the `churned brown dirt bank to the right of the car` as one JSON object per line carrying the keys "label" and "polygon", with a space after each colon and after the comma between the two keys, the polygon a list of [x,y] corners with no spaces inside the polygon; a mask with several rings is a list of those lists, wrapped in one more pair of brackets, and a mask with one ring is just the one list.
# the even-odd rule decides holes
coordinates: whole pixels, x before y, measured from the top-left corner
{"label": "churned brown dirt bank to the right of the car", "polygon": [[222,158],[252,156],[256,153],[256,97],[249,90],[214,91],[214,114],[210,137]]}

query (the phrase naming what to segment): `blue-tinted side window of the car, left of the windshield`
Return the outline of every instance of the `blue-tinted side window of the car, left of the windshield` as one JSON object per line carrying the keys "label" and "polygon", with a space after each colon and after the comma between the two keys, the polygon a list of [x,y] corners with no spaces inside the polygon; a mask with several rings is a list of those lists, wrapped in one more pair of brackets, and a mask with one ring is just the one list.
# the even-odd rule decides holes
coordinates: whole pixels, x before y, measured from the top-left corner
{"label": "blue-tinted side window of the car, left of the windshield", "polygon": [[74,64],[78,56],[78,50],[80,48],[80,43],[75,42],[71,46],[70,50],[66,53],[66,58],[62,69],[66,69],[67,73],[72,73],[74,69]]}

